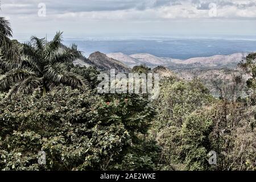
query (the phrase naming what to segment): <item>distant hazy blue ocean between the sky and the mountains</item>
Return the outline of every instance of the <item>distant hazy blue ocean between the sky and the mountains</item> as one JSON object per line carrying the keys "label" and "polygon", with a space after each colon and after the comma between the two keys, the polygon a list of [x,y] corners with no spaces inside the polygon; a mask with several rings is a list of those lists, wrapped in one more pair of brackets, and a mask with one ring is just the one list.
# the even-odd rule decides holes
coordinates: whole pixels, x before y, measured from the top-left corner
{"label": "distant hazy blue ocean between the sky and the mountains", "polygon": [[[28,37],[29,38],[29,37]],[[24,42],[28,38],[18,38]],[[171,38],[170,36],[140,37],[98,37],[98,36],[64,36],[64,44],[76,43],[84,55],[100,51],[103,53],[122,52],[150,53],[159,57],[189,59],[191,57],[208,57],[230,55],[237,52],[255,52],[256,39],[253,38]]]}

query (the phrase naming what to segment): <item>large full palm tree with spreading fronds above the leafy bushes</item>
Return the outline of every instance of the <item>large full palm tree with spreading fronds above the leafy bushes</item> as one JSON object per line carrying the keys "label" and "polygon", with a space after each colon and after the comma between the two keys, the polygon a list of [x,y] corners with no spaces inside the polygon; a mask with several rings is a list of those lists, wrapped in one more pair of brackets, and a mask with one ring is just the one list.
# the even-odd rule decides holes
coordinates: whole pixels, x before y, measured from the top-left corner
{"label": "large full palm tree with spreading fronds above the leafy bushes", "polygon": [[77,46],[63,48],[62,32],[57,32],[52,42],[32,36],[29,43],[23,44],[18,61],[4,61],[2,66],[9,69],[0,77],[0,89],[9,90],[8,96],[30,94],[41,88],[43,96],[57,85],[77,87],[84,85],[81,76],[69,72],[65,63],[72,63],[81,55]]}

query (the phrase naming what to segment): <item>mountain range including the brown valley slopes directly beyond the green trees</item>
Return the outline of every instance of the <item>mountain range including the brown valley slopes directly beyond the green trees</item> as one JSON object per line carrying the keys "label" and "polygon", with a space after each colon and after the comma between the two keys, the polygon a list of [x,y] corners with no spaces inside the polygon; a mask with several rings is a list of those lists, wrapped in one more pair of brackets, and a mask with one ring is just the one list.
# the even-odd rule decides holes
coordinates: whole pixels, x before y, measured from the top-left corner
{"label": "mountain range including the brown valley slopes directly beyond the green trees", "polygon": [[[246,75],[237,67],[247,53],[234,53],[232,55],[216,55],[211,57],[195,57],[187,60],[157,57],[148,53],[125,55],[123,53],[94,52],[88,58],[81,56],[73,63],[81,66],[94,66],[100,71],[109,72],[115,69],[116,73],[129,73],[135,65],[144,64],[151,68],[152,73],[159,73],[160,78],[172,77],[178,80],[192,80],[199,78],[210,90],[213,96],[220,96],[213,84],[228,81],[232,83],[234,76],[241,76],[246,82],[250,75]],[[240,93],[245,95],[244,90]]]}

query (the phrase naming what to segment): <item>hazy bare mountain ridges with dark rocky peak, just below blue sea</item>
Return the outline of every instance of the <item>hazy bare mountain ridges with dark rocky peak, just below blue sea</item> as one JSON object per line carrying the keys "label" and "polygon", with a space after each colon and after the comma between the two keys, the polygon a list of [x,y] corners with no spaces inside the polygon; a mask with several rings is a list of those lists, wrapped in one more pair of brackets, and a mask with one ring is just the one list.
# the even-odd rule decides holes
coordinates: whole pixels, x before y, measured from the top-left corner
{"label": "hazy bare mountain ridges with dark rocky peak, just below blue sea", "polygon": [[187,60],[173,59],[171,57],[157,57],[149,53],[126,55],[124,53],[94,52],[88,58],[81,56],[74,64],[81,66],[94,66],[100,71],[116,69],[117,72],[130,72],[135,65],[146,65],[151,69],[158,66],[170,68],[172,71],[189,69],[216,69],[236,68],[248,53],[233,53],[232,55],[215,55],[210,57],[193,57]]}

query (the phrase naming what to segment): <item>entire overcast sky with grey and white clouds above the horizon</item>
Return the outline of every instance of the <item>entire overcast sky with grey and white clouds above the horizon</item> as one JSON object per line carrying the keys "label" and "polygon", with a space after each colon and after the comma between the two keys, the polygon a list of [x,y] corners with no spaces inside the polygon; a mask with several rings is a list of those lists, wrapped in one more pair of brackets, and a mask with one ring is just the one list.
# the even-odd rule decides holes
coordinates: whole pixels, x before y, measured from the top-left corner
{"label": "entire overcast sky with grey and white clouds above the horizon", "polygon": [[2,0],[0,15],[14,35],[256,33],[256,0]]}

